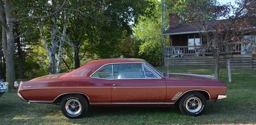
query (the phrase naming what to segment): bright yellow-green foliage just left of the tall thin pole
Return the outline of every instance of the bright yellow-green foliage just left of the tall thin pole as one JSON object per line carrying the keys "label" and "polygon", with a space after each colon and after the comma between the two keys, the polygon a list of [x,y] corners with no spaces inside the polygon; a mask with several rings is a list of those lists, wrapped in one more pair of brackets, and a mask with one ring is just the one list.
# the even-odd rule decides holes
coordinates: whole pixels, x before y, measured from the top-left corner
{"label": "bright yellow-green foliage just left of the tall thin pole", "polygon": [[134,28],[135,41],[140,43],[139,57],[155,66],[159,66],[162,59],[161,49],[161,3],[154,1],[156,10],[152,17],[141,17]]}

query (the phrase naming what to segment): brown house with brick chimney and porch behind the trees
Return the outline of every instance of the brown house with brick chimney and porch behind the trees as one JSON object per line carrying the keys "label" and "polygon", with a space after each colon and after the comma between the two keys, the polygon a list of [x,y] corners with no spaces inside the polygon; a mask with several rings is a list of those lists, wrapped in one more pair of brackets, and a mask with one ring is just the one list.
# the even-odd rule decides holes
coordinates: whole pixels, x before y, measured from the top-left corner
{"label": "brown house with brick chimney and porch behind the trees", "polygon": [[[229,20],[208,21],[208,28],[220,22],[228,23]],[[252,22],[250,28],[255,31],[256,21]],[[165,66],[215,66],[214,56],[207,49],[208,40],[200,34],[201,27],[202,24],[198,22],[180,23],[177,13],[169,14],[169,28],[162,34],[164,37],[169,36],[169,44],[163,45]],[[221,65],[226,65],[230,58],[231,67],[256,69],[256,33],[248,32],[243,36],[246,38],[243,42],[221,49]]]}

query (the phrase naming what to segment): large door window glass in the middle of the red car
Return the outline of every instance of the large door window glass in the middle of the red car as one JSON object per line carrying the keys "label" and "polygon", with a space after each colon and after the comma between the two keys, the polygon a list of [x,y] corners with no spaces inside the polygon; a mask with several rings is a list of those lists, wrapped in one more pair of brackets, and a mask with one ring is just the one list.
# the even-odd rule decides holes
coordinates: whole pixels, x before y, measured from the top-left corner
{"label": "large door window glass in the middle of the red car", "polygon": [[115,64],[114,79],[145,78],[142,64]]}

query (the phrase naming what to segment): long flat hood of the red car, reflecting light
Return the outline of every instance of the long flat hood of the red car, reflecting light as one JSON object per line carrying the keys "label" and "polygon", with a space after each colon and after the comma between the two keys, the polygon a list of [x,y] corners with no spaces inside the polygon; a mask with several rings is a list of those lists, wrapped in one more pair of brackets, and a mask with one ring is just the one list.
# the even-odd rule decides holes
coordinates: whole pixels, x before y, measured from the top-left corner
{"label": "long flat hood of the red car, reflecting light", "polygon": [[169,73],[165,76],[171,79],[218,81],[214,76],[209,75]]}

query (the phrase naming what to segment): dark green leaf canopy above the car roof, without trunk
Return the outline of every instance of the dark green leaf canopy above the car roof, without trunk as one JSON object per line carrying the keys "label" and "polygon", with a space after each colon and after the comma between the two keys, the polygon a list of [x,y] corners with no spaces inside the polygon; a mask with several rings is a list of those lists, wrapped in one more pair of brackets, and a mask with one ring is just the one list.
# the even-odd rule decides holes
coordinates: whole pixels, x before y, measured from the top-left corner
{"label": "dark green leaf canopy above the car roof, without trunk", "polygon": [[[95,23],[88,25],[86,46],[89,51],[96,53],[101,58],[129,55],[120,53],[123,38],[132,35],[133,25],[138,23],[141,16],[151,16],[155,3],[151,1],[109,1],[105,9],[100,11],[100,19],[90,19]],[[125,40],[124,40],[125,41]],[[126,56],[125,56],[126,57]],[[127,57],[131,57],[127,56]]]}

